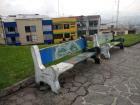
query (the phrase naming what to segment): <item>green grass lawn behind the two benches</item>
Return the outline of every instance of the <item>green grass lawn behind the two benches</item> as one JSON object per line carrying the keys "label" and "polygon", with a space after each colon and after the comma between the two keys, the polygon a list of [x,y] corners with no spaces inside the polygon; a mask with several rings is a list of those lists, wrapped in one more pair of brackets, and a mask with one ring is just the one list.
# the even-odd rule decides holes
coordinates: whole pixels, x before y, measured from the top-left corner
{"label": "green grass lawn behind the two benches", "polygon": [[[125,46],[140,41],[140,34],[118,37],[125,38]],[[92,43],[89,43],[89,47],[91,46]],[[48,47],[48,45],[39,45],[39,47]],[[70,57],[64,57],[64,59]],[[55,63],[64,59],[60,59]],[[34,66],[30,46],[0,46],[0,90],[33,74]]]}

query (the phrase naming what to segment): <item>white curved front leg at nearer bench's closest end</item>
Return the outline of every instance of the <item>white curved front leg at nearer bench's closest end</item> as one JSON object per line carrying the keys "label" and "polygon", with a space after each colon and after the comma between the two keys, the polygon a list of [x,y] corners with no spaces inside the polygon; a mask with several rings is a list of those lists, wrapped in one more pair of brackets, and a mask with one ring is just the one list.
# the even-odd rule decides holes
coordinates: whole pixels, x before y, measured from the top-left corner
{"label": "white curved front leg at nearer bench's closest end", "polygon": [[47,68],[47,70],[45,70],[45,72],[42,75],[43,82],[47,83],[54,93],[59,93],[60,89],[58,76],[58,72],[52,67]]}

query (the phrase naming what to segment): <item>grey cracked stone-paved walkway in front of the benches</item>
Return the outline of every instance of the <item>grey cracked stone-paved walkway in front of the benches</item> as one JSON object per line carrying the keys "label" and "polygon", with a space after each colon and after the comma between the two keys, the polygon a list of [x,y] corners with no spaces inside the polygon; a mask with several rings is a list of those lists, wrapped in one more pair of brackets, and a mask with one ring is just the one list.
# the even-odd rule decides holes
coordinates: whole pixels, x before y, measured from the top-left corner
{"label": "grey cracked stone-paved walkway in front of the benches", "polygon": [[59,95],[33,84],[0,105],[140,105],[140,44],[113,49],[111,55],[101,65],[88,61],[64,73]]}

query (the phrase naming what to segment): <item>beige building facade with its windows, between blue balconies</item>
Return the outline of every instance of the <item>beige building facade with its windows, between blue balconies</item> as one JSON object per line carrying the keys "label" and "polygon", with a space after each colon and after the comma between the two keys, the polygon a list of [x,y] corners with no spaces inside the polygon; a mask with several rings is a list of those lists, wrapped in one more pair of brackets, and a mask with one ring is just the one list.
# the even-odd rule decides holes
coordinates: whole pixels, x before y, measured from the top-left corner
{"label": "beige building facade with its windows, between blue balconies", "polygon": [[16,19],[16,22],[21,44],[44,43],[42,19]]}

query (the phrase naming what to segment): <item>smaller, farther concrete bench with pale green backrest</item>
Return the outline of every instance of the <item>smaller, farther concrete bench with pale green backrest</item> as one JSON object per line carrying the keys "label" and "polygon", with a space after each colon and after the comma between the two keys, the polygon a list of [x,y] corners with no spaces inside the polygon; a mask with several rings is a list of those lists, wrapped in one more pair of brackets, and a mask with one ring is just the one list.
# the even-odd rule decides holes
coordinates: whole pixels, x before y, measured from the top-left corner
{"label": "smaller, farther concrete bench with pale green backrest", "polygon": [[101,54],[107,59],[110,59],[111,57],[109,50],[115,46],[120,47],[120,49],[124,49],[123,43],[123,38],[114,38],[111,33],[103,35],[96,34],[94,36],[94,47],[99,47],[101,49]]}

